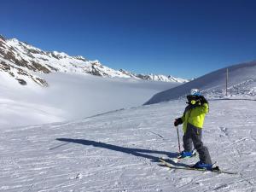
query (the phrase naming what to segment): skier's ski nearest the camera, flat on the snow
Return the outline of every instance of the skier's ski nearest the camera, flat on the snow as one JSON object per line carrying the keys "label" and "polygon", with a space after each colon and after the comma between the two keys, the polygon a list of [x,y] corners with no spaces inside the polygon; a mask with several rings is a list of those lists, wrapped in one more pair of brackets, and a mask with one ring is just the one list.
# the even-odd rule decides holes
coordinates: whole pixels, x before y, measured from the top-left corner
{"label": "skier's ski nearest the camera, flat on the snow", "polygon": [[218,166],[212,168],[212,170],[201,169],[201,168],[194,168],[192,166],[173,166],[171,163],[168,163],[166,160],[160,158],[160,162],[163,166],[167,166],[170,169],[181,169],[181,170],[190,170],[190,171],[198,171],[198,172],[216,172],[216,173],[225,173],[230,175],[235,175],[237,172],[227,172],[223,170],[219,170]]}

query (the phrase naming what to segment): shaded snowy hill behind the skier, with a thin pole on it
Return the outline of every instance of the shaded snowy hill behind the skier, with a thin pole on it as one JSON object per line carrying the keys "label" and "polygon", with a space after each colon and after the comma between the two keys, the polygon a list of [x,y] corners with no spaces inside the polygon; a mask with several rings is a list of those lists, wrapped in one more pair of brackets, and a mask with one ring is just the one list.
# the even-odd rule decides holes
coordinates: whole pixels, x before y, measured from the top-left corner
{"label": "shaded snowy hill behind the skier, with a thin pole on it", "polygon": [[[228,97],[256,99],[256,61],[241,63],[229,68]],[[182,84],[171,90],[162,91],[154,95],[145,104],[166,102],[189,94],[193,88],[201,89],[207,97],[224,97],[226,82],[226,68],[208,73],[201,78]]]}

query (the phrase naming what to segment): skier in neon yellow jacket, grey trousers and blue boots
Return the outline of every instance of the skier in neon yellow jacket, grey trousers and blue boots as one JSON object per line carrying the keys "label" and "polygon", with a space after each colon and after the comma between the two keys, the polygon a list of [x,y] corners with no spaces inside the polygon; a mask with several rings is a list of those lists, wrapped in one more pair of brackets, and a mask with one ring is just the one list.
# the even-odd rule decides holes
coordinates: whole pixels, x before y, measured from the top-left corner
{"label": "skier in neon yellow jacket, grey trousers and blue boots", "polygon": [[180,158],[189,158],[195,155],[195,151],[192,150],[193,143],[200,161],[192,167],[212,170],[212,160],[208,148],[201,141],[205,115],[209,111],[207,99],[201,96],[197,89],[192,89],[187,99],[188,106],[185,108],[183,116],[174,121],[175,126],[183,124],[184,150],[181,152]]}

